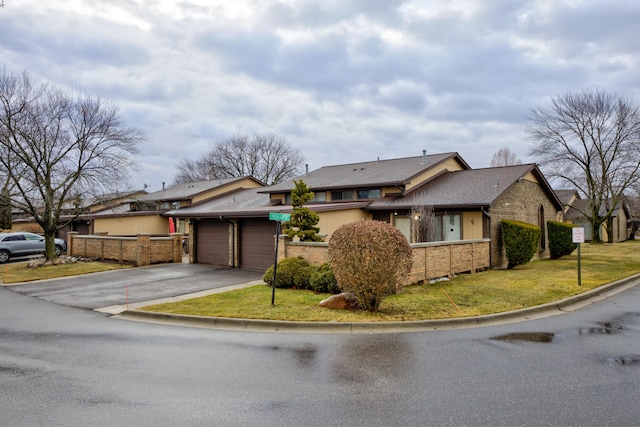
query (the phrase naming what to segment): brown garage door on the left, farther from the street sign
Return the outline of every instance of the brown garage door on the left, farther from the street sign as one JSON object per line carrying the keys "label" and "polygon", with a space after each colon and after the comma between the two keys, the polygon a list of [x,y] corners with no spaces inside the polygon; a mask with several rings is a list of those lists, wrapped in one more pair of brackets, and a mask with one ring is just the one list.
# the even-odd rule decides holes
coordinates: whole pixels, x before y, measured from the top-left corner
{"label": "brown garage door on the left, farther from the street sign", "polygon": [[229,223],[219,219],[198,221],[196,261],[200,264],[229,265]]}

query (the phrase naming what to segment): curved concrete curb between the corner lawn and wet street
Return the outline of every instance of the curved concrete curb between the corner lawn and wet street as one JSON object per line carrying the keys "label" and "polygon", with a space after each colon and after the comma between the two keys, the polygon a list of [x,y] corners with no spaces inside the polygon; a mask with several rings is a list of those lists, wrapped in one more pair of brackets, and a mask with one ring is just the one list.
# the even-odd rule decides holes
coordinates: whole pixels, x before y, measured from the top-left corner
{"label": "curved concrete curb between the corner lawn and wet street", "polygon": [[640,283],[640,280],[638,279],[640,279],[640,274],[636,274],[607,285],[599,286],[590,291],[565,298],[560,301],[542,304],[535,307],[528,307],[504,313],[451,319],[407,322],[292,322],[282,320],[187,316],[169,313],[153,313],[141,310],[125,310],[112,317],[140,322],[171,324],[206,329],[255,332],[371,334],[438,331],[519,322],[575,311],[636,286]]}

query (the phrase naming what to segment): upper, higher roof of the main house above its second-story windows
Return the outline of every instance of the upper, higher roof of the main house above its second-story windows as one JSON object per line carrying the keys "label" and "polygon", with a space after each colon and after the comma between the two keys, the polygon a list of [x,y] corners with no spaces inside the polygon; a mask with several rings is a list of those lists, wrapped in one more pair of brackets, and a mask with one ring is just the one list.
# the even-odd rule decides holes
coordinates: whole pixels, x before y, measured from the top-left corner
{"label": "upper, higher roof of the main house above its second-story windows", "polygon": [[[345,165],[323,166],[295,180],[302,179],[314,191],[404,185],[411,178],[450,159],[456,159],[465,169],[471,167],[458,153],[442,153],[401,159],[375,160]],[[282,193],[295,187],[293,179],[262,189],[264,193]]]}

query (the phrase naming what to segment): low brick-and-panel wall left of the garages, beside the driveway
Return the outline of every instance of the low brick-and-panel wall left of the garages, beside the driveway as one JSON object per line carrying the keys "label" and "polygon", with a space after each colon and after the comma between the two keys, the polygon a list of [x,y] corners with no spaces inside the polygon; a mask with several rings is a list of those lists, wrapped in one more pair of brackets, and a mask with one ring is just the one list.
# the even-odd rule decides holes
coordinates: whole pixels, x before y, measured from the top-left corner
{"label": "low brick-and-panel wall left of the garages, beside the driveway", "polygon": [[116,237],[67,234],[67,253],[71,256],[134,263],[141,267],[163,262],[182,262],[182,234],[151,237]]}

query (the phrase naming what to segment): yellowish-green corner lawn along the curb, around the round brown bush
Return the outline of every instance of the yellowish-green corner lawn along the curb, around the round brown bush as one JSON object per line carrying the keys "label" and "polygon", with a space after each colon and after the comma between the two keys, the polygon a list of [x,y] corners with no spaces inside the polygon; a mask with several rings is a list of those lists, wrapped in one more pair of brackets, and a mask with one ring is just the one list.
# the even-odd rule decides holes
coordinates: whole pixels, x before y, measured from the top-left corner
{"label": "yellowish-green corner lawn along the curb, around the round brown bush", "polygon": [[533,261],[513,270],[460,275],[450,281],[406,287],[387,297],[380,312],[330,310],[318,307],[328,294],[251,288],[214,294],[142,310],[230,318],[298,321],[426,320],[499,313],[557,301],[640,273],[640,241],[583,244],[582,286],[578,286],[577,251],[559,260]]}

